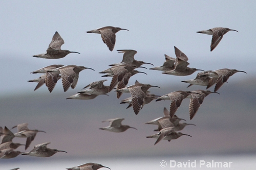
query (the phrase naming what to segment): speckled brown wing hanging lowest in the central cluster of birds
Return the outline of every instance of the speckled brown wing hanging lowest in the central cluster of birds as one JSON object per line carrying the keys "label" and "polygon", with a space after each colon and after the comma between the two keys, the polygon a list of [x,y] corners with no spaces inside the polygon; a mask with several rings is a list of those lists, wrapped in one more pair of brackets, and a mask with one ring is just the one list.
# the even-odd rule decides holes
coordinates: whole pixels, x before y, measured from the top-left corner
{"label": "speckled brown wing hanging lowest in the central cluster of birds", "polygon": [[139,111],[144,106],[145,93],[142,91],[141,86],[129,88],[129,91],[132,95],[132,104],[133,104],[134,113],[138,114]]}

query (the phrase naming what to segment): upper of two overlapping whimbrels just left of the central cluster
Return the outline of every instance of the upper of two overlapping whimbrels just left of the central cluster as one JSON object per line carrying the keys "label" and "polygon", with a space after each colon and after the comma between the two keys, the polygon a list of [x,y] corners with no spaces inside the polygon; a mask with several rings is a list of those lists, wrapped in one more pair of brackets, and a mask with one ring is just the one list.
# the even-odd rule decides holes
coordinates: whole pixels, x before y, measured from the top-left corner
{"label": "upper of two overlapping whimbrels just left of the central cluster", "polygon": [[84,87],[83,89],[90,87],[89,89],[79,91],[78,93],[83,93],[83,94],[106,94],[109,92],[110,86],[104,86],[103,82],[107,80],[100,80],[100,81],[95,81]]}

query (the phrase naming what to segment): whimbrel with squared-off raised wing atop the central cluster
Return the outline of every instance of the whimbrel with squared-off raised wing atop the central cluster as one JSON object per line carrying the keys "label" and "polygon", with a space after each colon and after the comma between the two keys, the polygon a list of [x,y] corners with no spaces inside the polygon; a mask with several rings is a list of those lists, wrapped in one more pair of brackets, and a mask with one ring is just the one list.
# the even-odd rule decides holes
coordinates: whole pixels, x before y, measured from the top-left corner
{"label": "whimbrel with squared-off raised wing atop the central cluster", "polygon": [[117,51],[118,53],[123,53],[123,60],[120,63],[110,64],[109,66],[115,66],[120,64],[141,66],[142,64],[151,64],[151,63],[145,63],[144,61],[135,60],[134,55],[137,54],[137,51],[135,50],[117,50]]}

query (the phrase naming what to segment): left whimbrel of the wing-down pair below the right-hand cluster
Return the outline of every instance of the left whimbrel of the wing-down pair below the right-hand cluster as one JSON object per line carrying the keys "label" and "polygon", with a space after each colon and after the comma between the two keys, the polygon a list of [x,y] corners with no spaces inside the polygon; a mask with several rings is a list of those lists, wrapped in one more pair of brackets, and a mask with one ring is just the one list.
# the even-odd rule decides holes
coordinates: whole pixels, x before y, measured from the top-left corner
{"label": "left whimbrel of the wing-down pair below the right-hand cluster", "polygon": [[[173,117],[175,112],[179,109],[181,102],[183,99],[187,98],[187,96],[192,93],[190,91],[174,91],[170,92],[168,94],[162,95],[160,98],[156,100],[161,101],[161,100],[170,100],[170,117]],[[193,96],[192,96],[193,97]]]}

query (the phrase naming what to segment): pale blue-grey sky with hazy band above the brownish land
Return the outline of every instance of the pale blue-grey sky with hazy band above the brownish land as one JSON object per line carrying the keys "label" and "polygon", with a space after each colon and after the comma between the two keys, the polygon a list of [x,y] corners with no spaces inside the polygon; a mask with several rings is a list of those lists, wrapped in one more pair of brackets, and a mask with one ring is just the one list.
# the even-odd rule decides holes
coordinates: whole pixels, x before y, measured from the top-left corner
{"label": "pale blue-grey sky with hazy band above the brownish land", "polygon": [[[122,54],[116,50],[136,50],[135,59],[160,66],[164,54],[175,57],[174,46],[187,55],[189,67],[236,68],[248,73],[246,76],[237,74],[231,81],[250,77],[255,73],[256,63],[255,7],[255,1],[1,1],[2,94],[33,92],[35,84],[27,81],[40,75],[29,73],[51,64],[94,68],[95,71],[80,72],[77,84],[80,90],[93,81],[102,80],[98,72],[122,60]],[[105,26],[130,30],[116,34],[113,52],[108,50],[100,35],[86,33]],[[228,32],[210,52],[211,36],[196,32],[214,27],[227,27],[239,33]],[[65,41],[61,46],[63,50],[81,54],[69,54],[57,60],[33,58],[32,55],[46,52],[55,31]],[[160,86],[196,76],[195,73],[175,77],[162,75],[160,71],[138,70],[147,75],[134,76],[129,85],[139,80],[142,83],[157,81]],[[55,90],[62,91],[60,82]],[[47,88],[41,87],[38,91],[47,92]]]}

